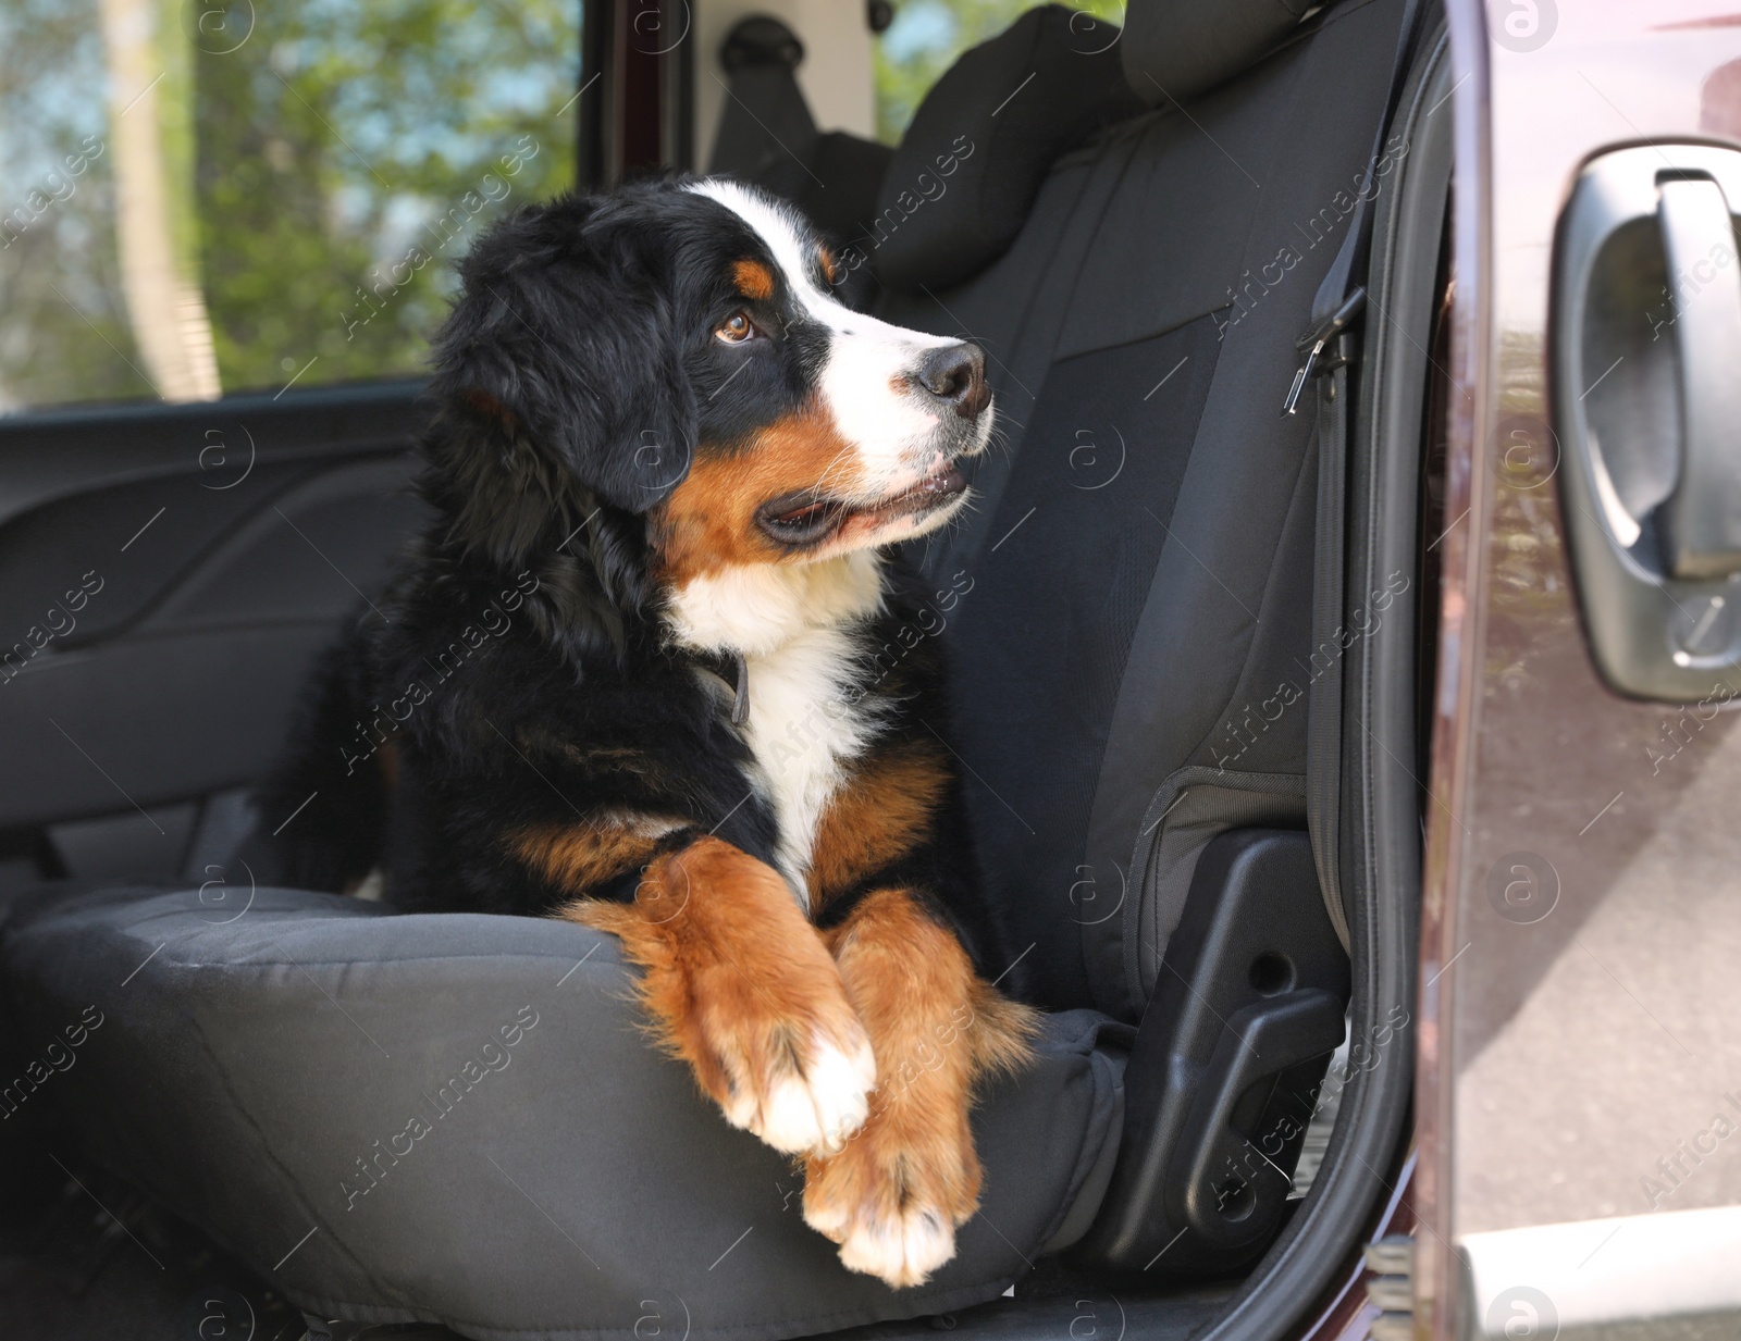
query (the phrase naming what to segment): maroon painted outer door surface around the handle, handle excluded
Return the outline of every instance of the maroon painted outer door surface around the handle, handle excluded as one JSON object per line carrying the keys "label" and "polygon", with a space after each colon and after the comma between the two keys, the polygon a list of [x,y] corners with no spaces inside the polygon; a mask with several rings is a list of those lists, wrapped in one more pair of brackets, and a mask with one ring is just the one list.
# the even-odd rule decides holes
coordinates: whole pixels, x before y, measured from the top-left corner
{"label": "maroon painted outer door surface around the handle, handle excluded", "polygon": [[[1687,1334],[1734,1334],[1732,1292],[1685,1287],[1734,1278],[1725,1235],[1670,1218],[1741,1205],[1741,1155],[1713,1138],[1741,1118],[1724,1118],[1741,1044],[1722,1005],[1741,955],[1736,691],[1713,673],[1680,685],[1684,703],[1642,703],[1603,675],[1605,597],[1567,543],[1588,497],[1563,454],[1567,426],[1631,369],[1602,360],[1556,386],[1572,336],[1551,313],[1562,217],[1591,160],[1644,146],[1659,184],[1677,179],[1677,143],[1741,137],[1741,28],[1713,0],[1449,9],[1459,278],[1417,1308],[1436,1338],[1644,1334],[1706,1304],[1706,1331]],[[1638,348],[1689,301],[1644,297],[1626,318]],[[1637,423],[1673,440],[1661,412]],[[1677,1273],[1633,1270],[1670,1242]],[[1598,1287],[1621,1277],[1624,1291]]]}

